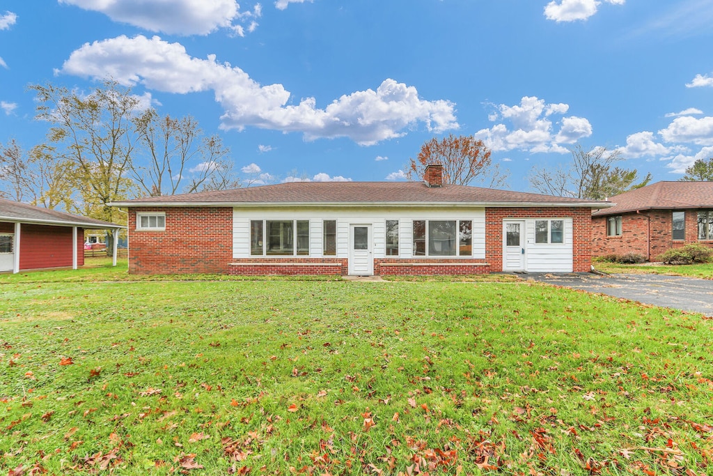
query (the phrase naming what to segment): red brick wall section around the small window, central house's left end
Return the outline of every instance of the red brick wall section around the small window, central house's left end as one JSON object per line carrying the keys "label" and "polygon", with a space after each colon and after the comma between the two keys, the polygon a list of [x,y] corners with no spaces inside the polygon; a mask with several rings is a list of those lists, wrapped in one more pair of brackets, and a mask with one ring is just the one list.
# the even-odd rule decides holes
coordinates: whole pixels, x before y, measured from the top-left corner
{"label": "red brick wall section around the small window, central house's left end", "polygon": [[[137,212],[165,212],[165,231],[136,230]],[[130,208],[129,273],[226,273],[232,208]]]}

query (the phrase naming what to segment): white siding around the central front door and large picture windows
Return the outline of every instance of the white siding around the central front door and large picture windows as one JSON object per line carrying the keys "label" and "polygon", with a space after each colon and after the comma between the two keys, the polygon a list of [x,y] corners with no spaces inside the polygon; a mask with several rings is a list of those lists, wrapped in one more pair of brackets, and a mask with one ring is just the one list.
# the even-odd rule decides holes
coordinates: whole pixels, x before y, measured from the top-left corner
{"label": "white siding around the central front door and large picture windows", "polygon": [[[374,233],[374,258],[386,254],[386,220],[399,221],[399,258],[413,253],[414,220],[473,221],[473,256],[486,257],[486,214],[483,208],[233,208],[233,258],[250,258],[250,220],[309,220],[309,256],[322,258],[322,221],[337,220],[337,258],[349,257],[349,224],[371,225]],[[533,225],[534,226],[534,225]],[[570,221],[570,230],[572,224]],[[534,242],[534,238],[533,238]],[[571,243],[571,237],[570,237]],[[571,248],[571,245],[570,245]],[[278,258],[279,257],[275,257]],[[420,257],[419,257],[420,258]],[[455,258],[455,257],[454,257]],[[434,260],[440,257],[431,258]]]}

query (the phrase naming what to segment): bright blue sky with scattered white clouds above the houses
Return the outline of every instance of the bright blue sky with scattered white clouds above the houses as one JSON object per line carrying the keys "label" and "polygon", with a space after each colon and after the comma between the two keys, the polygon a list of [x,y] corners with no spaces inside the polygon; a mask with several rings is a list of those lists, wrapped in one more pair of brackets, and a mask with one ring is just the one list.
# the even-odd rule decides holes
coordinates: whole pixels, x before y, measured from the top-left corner
{"label": "bright blue sky with scattered white clouds above the houses", "polygon": [[4,0],[0,142],[43,141],[29,84],[111,76],[252,180],[399,180],[448,133],[517,191],[575,143],[677,180],[713,157],[711,25],[710,0]]}

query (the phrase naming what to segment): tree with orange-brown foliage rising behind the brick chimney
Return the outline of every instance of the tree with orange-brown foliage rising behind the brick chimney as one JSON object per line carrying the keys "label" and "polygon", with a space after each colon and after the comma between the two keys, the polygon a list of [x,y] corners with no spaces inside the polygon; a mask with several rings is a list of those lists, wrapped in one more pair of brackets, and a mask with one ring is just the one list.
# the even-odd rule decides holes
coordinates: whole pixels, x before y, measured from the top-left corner
{"label": "tree with orange-brown foliage rising behind the brick chimney", "polygon": [[476,181],[478,185],[498,188],[506,184],[508,171],[501,172],[498,164],[491,161],[491,150],[483,141],[473,136],[453,136],[432,138],[421,146],[419,156],[409,159],[406,178],[412,181],[424,178],[426,166],[439,163],[443,166],[443,183],[468,185]]}

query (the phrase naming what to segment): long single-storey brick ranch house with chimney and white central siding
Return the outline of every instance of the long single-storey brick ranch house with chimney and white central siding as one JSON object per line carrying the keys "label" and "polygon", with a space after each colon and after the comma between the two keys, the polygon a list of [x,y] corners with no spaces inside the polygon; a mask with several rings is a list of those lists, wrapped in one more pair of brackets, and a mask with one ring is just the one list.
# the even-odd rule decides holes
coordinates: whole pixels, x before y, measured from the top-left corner
{"label": "long single-storey brick ranch house with chimney and white central siding", "polygon": [[130,273],[426,275],[589,271],[591,215],[609,204],[424,183],[332,182],[113,203]]}

